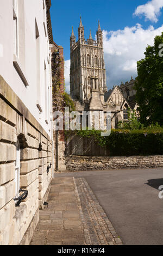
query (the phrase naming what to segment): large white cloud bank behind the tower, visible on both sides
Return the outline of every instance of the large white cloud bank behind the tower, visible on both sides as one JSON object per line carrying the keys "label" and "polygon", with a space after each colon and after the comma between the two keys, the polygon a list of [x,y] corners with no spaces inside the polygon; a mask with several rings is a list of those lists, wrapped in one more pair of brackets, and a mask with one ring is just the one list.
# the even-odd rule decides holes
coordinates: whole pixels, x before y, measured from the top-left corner
{"label": "large white cloud bank behind the tower, visible on both sides", "polygon": [[[154,44],[156,35],[161,35],[163,25],[143,29],[140,24],[118,31],[103,31],[106,84],[112,88],[137,76],[137,61],[144,58],[147,45]],[[70,92],[70,60],[65,62],[66,91]]]}

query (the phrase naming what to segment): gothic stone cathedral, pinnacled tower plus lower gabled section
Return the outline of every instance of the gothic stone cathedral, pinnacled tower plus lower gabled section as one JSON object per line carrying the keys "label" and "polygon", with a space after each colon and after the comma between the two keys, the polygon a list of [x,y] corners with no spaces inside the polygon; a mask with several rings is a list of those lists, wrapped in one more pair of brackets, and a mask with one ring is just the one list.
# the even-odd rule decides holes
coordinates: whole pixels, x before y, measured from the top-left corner
{"label": "gothic stone cathedral, pinnacled tower plus lower gabled section", "polygon": [[[80,17],[78,41],[73,29],[70,37],[71,67],[70,95],[76,111],[111,112],[111,127],[116,128],[119,121],[126,121],[128,108],[136,109],[134,80],[108,91],[103,52],[103,32],[98,22],[97,40],[90,36],[84,38],[84,27]],[[128,89],[127,89],[128,88]],[[132,97],[133,96],[133,97]]]}

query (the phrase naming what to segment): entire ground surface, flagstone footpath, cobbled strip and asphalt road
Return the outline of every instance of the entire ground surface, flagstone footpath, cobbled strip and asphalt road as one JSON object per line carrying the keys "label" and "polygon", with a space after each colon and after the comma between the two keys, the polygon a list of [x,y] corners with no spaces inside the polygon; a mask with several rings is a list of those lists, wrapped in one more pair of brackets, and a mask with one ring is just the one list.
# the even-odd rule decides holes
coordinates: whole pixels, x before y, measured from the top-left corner
{"label": "entire ground surface, flagstone footpath, cobbled strip and asphalt road", "polygon": [[163,168],[54,173],[32,245],[163,245]]}

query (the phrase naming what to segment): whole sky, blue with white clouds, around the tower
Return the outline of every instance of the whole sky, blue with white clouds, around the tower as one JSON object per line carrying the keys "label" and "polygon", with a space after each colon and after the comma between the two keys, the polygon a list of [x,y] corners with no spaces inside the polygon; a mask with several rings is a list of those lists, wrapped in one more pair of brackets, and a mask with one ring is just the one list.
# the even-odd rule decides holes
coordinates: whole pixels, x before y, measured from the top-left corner
{"label": "whole sky, blue with white clouds, around the tower", "polygon": [[[108,88],[135,77],[136,62],[143,58],[147,44],[163,32],[163,0],[52,0],[53,38],[64,47],[65,81],[69,90],[70,35],[72,26],[78,40],[80,15],[93,38],[98,19],[104,34],[104,58]],[[134,15],[135,13],[135,15]]]}

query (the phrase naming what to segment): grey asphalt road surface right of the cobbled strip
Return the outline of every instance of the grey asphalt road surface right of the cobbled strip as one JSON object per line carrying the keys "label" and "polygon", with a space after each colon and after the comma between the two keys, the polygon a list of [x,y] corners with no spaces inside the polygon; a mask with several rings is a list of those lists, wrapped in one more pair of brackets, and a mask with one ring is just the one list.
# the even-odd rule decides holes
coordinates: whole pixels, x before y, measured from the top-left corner
{"label": "grey asphalt road surface right of the cobbled strip", "polygon": [[[163,168],[55,173],[83,177],[124,245],[163,245]],[[163,193],[162,193],[163,194]]]}

